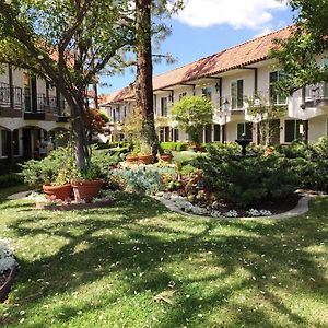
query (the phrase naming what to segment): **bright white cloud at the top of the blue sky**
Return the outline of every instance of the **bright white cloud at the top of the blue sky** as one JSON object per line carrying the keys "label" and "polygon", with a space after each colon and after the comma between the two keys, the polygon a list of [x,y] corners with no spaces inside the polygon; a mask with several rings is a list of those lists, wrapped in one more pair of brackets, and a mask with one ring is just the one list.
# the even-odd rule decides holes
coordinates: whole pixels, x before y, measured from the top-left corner
{"label": "bright white cloud at the top of the blue sky", "polygon": [[175,19],[194,27],[229,24],[234,28],[265,30],[272,11],[286,9],[278,0],[187,0]]}

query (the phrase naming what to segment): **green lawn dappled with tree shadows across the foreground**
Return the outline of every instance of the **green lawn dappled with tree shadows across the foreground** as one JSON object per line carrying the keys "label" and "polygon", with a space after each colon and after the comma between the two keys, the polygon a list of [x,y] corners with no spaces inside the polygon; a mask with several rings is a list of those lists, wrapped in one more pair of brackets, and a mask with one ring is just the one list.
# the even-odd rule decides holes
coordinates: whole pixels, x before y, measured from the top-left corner
{"label": "green lawn dappled with tree shadows across the foreground", "polygon": [[0,211],[20,262],[0,326],[328,327],[328,199],[285,221],[186,218],[136,195]]}

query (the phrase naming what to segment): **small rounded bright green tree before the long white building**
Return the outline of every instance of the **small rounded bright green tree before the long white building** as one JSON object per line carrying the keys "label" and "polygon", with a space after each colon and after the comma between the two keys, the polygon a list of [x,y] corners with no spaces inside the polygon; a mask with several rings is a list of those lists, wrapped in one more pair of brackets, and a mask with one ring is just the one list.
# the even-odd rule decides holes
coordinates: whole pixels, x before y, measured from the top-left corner
{"label": "small rounded bright green tree before the long white building", "polygon": [[172,115],[198,145],[202,128],[213,120],[213,104],[206,97],[185,96],[172,107]]}

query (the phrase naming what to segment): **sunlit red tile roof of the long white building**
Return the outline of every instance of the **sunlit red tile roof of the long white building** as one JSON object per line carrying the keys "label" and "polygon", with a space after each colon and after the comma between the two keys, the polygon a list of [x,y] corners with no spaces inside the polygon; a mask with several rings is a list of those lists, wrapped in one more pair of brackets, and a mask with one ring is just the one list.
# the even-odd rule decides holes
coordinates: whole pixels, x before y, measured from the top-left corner
{"label": "sunlit red tile roof of the long white building", "polygon": [[[266,60],[269,58],[270,49],[274,47],[273,40],[288,38],[294,30],[294,26],[284,27],[154,77],[154,91]],[[107,99],[108,103],[115,103],[132,97],[133,87],[128,86],[110,94]]]}

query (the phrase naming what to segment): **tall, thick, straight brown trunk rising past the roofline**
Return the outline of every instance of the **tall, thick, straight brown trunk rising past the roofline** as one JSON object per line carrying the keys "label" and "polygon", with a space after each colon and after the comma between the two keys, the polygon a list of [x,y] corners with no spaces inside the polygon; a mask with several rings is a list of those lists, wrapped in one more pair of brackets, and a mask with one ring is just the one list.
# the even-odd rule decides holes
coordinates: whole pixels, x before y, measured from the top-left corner
{"label": "tall, thick, straight brown trunk rising past the roofline", "polygon": [[153,110],[153,66],[151,46],[151,0],[136,0],[137,20],[137,108],[143,117],[141,143],[157,154],[159,140],[155,132]]}

